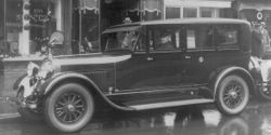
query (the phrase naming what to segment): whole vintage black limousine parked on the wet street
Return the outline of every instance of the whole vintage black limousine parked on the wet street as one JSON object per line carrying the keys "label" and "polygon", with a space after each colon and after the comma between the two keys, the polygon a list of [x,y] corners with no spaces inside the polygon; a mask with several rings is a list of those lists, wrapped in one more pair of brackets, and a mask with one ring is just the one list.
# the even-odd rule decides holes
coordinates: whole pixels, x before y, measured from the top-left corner
{"label": "whole vintage black limousine parked on the wet street", "polygon": [[14,84],[20,113],[42,113],[55,130],[77,132],[101,103],[128,111],[215,103],[222,113],[237,114],[249,95],[270,98],[258,62],[250,60],[248,22],[130,23],[102,37],[101,53],[29,63],[27,75]]}

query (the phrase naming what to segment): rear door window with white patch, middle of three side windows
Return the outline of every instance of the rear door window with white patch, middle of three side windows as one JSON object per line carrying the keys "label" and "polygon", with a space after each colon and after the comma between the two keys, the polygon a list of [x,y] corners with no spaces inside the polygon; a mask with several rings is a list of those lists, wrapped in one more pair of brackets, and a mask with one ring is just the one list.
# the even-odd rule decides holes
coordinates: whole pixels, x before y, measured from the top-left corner
{"label": "rear door window with white patch, middle of three side windows", "polygon": [[214,28],[210,26],[189,27],[186,32],[186,48],[193,49],[214,49]]}

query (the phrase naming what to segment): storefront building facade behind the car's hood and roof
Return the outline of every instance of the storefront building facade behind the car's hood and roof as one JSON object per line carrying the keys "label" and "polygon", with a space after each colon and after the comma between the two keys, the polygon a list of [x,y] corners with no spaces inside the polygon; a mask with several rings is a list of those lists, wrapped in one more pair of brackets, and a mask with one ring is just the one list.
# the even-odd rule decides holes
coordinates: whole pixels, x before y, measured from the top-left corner
{"label": "storefront building facade behind the car's hood and roof", "polygon": [[54,54],[99,52],[101,32],[124,21],[236,17],[232,5],[232,0],[1,0],[0,51],[42,55],[51,33],[61,31],[64,42]]}

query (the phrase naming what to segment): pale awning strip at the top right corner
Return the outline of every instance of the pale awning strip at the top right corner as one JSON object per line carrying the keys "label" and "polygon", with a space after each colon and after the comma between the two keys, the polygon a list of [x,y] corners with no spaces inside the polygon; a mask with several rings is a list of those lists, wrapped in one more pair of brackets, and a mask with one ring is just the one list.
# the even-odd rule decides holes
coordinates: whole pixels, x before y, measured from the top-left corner
{"label": "pale awning strip at the top right corner", "polygon": [[271,10],[271,2],[240,2],[237,4],[237,10],[242,11],[242,10],[257,10],[257,11],[262,11],[262,10]]}

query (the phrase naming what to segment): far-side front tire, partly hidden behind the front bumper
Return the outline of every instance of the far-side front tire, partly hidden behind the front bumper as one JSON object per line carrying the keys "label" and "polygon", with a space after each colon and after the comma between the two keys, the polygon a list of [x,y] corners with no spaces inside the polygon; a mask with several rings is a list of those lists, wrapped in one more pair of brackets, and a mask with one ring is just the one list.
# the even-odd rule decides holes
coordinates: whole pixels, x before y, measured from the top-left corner
{"label": "far-side front tire, partly hidden behind the front bumper", "polygon": [[[23,90],[20,90],[17,92],[17,100],[21,100],[22,98],[22,93]],[[23,108],[23,107],[20,107],[17,108],[17,112],[20,113],[20,116],[26,120],[26,121],[41,121],[43,120],[43,114],[42,114],[42,111],[34,111],[34,110],[30,110],[28,108]]]}

